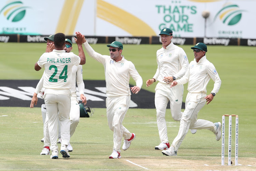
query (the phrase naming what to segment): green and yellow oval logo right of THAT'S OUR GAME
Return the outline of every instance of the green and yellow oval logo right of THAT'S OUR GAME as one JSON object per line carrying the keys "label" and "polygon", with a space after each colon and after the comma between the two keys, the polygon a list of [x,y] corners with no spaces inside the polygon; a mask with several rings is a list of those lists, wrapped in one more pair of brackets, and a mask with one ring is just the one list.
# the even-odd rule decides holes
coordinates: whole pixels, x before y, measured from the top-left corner
{"label": "green and yellow oval logo right of THAT'S OUR GAME", "polygon": [[214,21],[219,17],[219,19],[228,26],[237,24],[242,18],[242,12],[245,10],[240,10],[239,6],[236,4],[226,3],[223,8],[217,12],[214,17]]}

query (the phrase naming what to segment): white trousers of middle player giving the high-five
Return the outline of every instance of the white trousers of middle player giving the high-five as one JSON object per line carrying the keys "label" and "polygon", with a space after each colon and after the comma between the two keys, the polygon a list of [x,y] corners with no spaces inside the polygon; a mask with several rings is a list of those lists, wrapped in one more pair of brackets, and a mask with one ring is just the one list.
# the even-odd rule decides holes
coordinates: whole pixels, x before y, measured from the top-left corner
{"label": "white trousers of middle player giving the high-five", "polygon": [[122,137],[128,140],[132,134],[122,125],[125,114],[129,109],[131,96],[118,96],[114,98],[106,98],[106,115],[108,118],[108,124],[113,134],[113,149],[117,152],[121,152]]}

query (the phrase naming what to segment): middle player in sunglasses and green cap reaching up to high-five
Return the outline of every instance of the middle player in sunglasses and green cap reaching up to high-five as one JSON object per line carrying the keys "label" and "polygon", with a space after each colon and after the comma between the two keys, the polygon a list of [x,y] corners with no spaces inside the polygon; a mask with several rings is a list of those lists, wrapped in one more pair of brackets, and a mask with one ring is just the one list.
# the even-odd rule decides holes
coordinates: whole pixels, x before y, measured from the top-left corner
{"label": "middle player in sunglasses and green cap reaching up to high-five", "polygon": [[[113,134],[113,152],[109,158],[121,158],[120,146],[122,137],[124,137],[123,150],[130,147],[131,141],[135,139],[136,135],[130,133],[123,125],[125,114],[129,109],[131,92],[137,94],[142,86],[142,78],[135,69],[133,63],[128,61],[121,55],[123,51],[123,44],[114,41],[109,47],[110,56],[101,55],[94,51],[84,38],[83,43],[86,52],[90,57],[103,64],[105,69],[106,80],[106,115],[108,119],[109,128],[114,132]],[[136,86],[129,87],[130,76],[136,82]]]}

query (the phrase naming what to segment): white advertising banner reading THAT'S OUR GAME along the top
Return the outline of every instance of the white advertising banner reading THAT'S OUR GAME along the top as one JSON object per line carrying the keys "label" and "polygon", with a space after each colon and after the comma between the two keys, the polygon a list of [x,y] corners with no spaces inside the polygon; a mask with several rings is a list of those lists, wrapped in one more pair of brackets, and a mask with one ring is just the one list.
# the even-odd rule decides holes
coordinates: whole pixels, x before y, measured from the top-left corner
{"label": "white advertising banner reading THAT'S OUR GAME along the top", "polygon": [[[55,7],[54,19],[46,17],[49,4]],[[2,0],[0,33],[73,35],[80,31],[90,36],[151,37],[170,28],[174,37],[256,39],[255,6],[255,0]],[[205,11],[209,12],[206,20]]]}

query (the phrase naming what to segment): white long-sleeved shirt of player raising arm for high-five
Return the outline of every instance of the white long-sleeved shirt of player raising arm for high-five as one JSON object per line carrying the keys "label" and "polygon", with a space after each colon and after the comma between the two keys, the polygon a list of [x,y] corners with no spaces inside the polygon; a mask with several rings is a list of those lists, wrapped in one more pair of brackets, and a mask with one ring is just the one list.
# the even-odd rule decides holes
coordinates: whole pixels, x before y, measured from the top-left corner
{"label": "white long-sleeved shirt of player raising arm for high-five", "polygon": [[123,55],[121,61],[115,62],[110,56],[95,52],[87,41],[83,45],[89,56],[104,66],[107,97],[131,95],[129,87],[130,76],[136,82],[136,86],[141,88],[143,81],[140,74],[133,63],[126,60]]}

